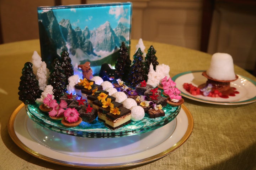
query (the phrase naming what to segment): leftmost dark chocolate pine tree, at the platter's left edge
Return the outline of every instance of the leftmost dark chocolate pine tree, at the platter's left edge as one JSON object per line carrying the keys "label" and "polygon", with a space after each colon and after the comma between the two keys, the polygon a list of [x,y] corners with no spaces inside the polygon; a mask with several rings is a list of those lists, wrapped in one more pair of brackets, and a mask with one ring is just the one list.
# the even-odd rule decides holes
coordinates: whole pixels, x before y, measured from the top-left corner
{"label": "leftmost dark chocolate pine tree, at the platter's left edge", "polygon": [[37,98],[40,98],[41,92],[39,90],[38,80],[33,73],[33,64],[26,62],[22,69],[22,76],[20,77],[20,86],[18,87],[19,100],[24,104],[33,104]]}

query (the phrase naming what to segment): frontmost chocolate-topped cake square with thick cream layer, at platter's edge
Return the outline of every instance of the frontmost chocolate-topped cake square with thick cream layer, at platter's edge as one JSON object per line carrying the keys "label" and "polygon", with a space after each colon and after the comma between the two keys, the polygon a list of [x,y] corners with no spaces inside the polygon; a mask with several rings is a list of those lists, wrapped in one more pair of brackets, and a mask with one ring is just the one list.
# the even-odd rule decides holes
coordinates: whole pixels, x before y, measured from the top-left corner
{"label": "frontmost chocolate-topped cake square with thick cream layer, at platter's edge", "polygon": [[106,121],[105,125],[112,129],[118,129],[124,125],[127,125],[128,123],[131,122],[131,111],[130,109],[127,109],[125,107],[120,107],[119,108],[120,114],[112,114],[112,113],[107,113],[106,114]]}

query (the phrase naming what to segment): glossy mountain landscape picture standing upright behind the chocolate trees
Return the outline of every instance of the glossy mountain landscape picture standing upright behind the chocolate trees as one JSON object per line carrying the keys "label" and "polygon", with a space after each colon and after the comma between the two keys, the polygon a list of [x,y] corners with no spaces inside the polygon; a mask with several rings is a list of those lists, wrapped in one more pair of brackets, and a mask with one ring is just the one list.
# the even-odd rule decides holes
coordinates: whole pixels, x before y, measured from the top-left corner
{"label": "glossy mountain landscape picture standing upright behind the chocolate trees", "polygon": [[97,74],[101,64],[114,65],[122,42],[129,49],[131,16],[130,2],[38,7],[42,60],[50,69],[66,50],[73,67],[90,61]]}

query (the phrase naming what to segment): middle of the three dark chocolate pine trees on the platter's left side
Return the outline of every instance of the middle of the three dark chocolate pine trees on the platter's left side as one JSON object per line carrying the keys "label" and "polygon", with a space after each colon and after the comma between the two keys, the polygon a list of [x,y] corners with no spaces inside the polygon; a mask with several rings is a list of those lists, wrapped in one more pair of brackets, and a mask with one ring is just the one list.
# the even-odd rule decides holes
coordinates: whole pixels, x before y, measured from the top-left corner
{"label": "middle of the three dark chocolate pine trees on the platter's left side", "polygon": [[58,58],[54,59],[48,83],[53,86],[53,95],[56,100],[66,92],[66,76]]}

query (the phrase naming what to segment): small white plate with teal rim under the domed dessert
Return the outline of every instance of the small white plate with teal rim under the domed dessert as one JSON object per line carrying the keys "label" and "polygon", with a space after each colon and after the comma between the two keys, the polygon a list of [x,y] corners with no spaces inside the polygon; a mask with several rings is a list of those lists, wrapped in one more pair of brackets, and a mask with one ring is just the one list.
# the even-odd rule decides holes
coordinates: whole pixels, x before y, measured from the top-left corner
{"label": "small white plate with teal rim under the domed dessert", "polygon": [[237,75],[238,79],[230,82],[230,87],[234,87],[238,93],[226,98],[192,95],[183,88],[184,83],[190,83],[196,87],[204,84],[207,78],[202,75],[203,72],[204,70],[183,72],[172,77],[172,80],[175,81],[176,87],[180,89],[183,97],[195,101],[223,105],[247,104],[256,101],[256,82],[241,75]]}

